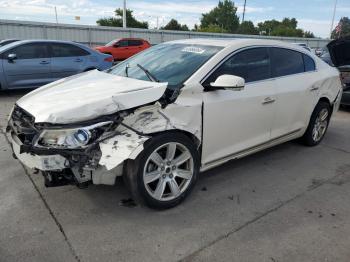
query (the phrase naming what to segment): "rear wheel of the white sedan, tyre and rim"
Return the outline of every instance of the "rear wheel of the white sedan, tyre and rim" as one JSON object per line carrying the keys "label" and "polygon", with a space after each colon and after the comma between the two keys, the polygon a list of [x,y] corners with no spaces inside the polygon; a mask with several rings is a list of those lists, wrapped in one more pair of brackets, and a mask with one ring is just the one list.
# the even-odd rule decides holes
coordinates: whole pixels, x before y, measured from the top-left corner
{"label": "rear wheel of the white sedan, tyre and rim", "polygon": [[309,125],[301,138],[306,146],[316,146],[322,141],[327,132],[330,117],[331,107],[329,103],[318,102],[311,115]]}

